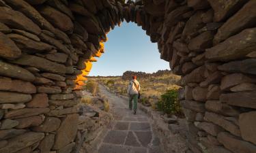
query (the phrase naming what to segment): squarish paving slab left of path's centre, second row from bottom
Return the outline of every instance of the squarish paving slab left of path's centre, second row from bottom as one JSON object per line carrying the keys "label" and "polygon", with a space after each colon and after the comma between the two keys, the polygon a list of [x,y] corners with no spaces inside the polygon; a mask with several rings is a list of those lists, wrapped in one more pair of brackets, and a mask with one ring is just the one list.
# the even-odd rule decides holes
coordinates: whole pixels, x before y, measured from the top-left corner
{"label": "squarish paving slab left of path's centre, second row from bottom", "polygon": [[127,133],[128,132],[126,131],[109,131],[109,133],[104,138],[103,142],[113,144],[124,144]]}

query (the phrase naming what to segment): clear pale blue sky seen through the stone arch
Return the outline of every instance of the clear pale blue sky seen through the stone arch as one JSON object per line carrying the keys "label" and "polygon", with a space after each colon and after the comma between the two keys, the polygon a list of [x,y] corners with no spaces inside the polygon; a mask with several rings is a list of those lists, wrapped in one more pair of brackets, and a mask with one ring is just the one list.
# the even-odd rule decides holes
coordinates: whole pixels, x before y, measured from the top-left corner
{"label": "clear pale blue sky seen through the stone arch", "polygon": [[104,54],[93,63],[90,76],[122,75],[125,71],[153,73],[170,69],[169,63],[160,59],[157,44],[150,41],[145,31],[132,22],[123,22],[107,35]]}

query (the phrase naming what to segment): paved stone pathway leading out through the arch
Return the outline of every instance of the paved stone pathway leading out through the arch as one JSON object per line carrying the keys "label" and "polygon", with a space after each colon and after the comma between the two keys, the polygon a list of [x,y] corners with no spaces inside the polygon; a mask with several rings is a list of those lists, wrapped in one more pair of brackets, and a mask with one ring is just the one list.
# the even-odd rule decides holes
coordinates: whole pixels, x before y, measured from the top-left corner
{"label": "paved stone pathway leading out through the arch", "polygon": [[113,121],[98,137],[101,139],[98,153],[162,153],[160,141],[145,113],[138,110],[136,115],[132,114],[128,101],[104,86],[100,86],[100,92],[109,99]]}

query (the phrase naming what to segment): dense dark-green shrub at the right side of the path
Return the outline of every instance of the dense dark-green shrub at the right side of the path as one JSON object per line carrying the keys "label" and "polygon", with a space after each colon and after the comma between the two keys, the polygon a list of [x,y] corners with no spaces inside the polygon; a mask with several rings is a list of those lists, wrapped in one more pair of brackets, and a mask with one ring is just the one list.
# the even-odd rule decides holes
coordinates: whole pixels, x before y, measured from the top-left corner
{"label": "dense dark-green shrub at the right side of the path", "polygon": [[161,95],[160,101],[157,103],[158,110],[166,114],[182,114],[182,107],[177,100],[177,90],[167,90],[165,94]]}

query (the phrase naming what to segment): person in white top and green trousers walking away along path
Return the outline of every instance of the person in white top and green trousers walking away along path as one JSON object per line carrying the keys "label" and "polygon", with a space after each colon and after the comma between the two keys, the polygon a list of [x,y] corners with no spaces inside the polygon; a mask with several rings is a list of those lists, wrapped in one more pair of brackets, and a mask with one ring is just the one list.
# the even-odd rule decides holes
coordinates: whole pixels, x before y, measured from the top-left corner
{"label": "person in white top and green trousers walking away along path", "polygon": [[139,90],[141,90],[141,86],[137,81],[137,76],[133,75],[132,80],[129,82],[127,93],[129,96],[129,109],[132,109],[132,101],[133,101],[133,114],[137,112],[137,103],[140,97]]}

